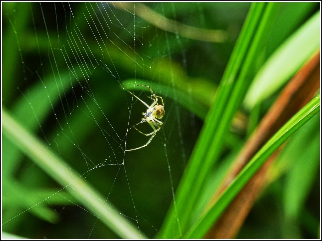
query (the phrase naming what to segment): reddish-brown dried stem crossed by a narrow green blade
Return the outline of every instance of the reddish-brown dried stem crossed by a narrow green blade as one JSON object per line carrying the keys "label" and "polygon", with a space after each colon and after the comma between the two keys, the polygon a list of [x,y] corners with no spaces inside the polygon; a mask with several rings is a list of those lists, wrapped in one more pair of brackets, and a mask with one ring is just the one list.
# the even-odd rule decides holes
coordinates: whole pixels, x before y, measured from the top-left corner
{"label": "reddish-brown dried stem crossed by a narrow green blade", "polygon": [[[279,98],[264,116],[257,130],[252,134],[232,164],[213,202],[237,176],[247,162],[260,150],[270,137],[279,130],[300,108],[305,106],[320,87],[320,53],[315,54],[285,86]],[[277,151],[278,152],[278,151]],[[266,175],[273,163],[275,152],[235,197],[221,218],[208,232],[206,238],[233,238],[265,185]]]}

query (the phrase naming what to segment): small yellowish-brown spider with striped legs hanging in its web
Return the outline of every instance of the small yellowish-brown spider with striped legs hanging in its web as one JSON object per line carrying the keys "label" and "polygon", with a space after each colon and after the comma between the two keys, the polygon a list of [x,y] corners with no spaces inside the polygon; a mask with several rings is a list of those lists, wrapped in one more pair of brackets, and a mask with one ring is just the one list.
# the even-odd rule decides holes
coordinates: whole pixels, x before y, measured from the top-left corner
{"label": "small yellowish-brown spider with striped legs hanging in its web", "polygon": [[[146,147],[148,144],[150,144],[150,142],[152,141],[153,137],[155,137],[156,133],[161,129],[161,126],[163,124],[162,121],[158,120],[161,119],[164,116],[164,102],[161,96],[156,95],[152,89],[150,88],[150,86],[147,86],[145,84],[139,84],[137,86],[145,86],[147,87],[150,91],[151,91],[151,99],[153,100],[153,103],[149,106],[147,103],[145,103],[143,100],[141,100],[140,98],[138,98],[135,94],[133,94],[132,92],[128,91],[131,95],[133,95],[134,97],[136,97],[139,101],[141,101],[146,107],[147,107],[147,111],[144,113],[142,113],[142,115],[144,116],[144,118],[142,118],[142,120],[137,123],[136,125],[142,124],[143,122],[147,122],[153,129],[153,131],[151,133],[143,133],[140,130],[138,130],[136,128],[136,125],[133,125],[130,129],[134,128],[136,129],[139,133],[145,135],[145,136],[151,136],[150,139],[147,141],[147,143],[143,146],[134,148],[134,149],[130,149],[130,150],[125,150],[125,151],[134,151],[134,150],[138,150],[141,149],[143,147]],[[161,99],[162,105],[158,104],[158,98]]]}

